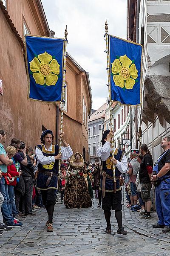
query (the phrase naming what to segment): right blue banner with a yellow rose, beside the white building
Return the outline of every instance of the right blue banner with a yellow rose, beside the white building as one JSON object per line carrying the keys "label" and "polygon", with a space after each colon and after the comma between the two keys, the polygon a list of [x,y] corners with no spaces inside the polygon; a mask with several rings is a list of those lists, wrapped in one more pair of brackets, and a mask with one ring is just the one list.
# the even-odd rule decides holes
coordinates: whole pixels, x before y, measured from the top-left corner
{"label": "right blue banner with a yellow rose, beside the white building", "polygon": [[141,105],[142,45],[109,35],[111,100]]}

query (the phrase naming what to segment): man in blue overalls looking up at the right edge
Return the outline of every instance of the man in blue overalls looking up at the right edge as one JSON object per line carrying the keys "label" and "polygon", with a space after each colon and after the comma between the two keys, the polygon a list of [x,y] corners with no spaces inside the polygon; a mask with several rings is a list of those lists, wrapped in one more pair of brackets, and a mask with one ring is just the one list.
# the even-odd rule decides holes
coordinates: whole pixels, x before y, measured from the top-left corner
{"label": "man in blue overalls looking up at the right edge", "polygon": [[163,138],[161,147],[164,153],[156,160],[154,175],[151,176],[156,181],[156,211],[159,218],[152,227],[163,228],[162,232],[165,233],[170,231],[170,136]]}

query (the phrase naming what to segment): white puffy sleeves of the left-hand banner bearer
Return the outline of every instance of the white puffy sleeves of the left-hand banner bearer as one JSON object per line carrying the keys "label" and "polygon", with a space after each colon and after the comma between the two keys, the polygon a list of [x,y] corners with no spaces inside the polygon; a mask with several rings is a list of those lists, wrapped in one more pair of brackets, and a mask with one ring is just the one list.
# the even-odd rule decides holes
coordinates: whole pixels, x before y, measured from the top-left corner
{"label": "white puffy sleeves of the left-hand banner bearer", "polygon": [[[52,145],[48,148],[48,151],[52,151]],[[62,160],[67,160],[69,157],[71,157],[73,155],[73,150],[71,149],[70,145],[68,145],[68,147],[61,147],[61,154]],[[35,155],[37,157],[38,163],[41,163],[43,165],[55,162],[54,156],[43,156],[42,151],[39,148],[35,149]]]}

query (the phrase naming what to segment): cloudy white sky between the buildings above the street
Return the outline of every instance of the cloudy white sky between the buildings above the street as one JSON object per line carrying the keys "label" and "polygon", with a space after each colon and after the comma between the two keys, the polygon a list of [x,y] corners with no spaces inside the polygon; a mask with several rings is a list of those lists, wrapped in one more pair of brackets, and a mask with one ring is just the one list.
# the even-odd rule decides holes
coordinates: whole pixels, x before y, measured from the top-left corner
{"label": "cloudy white sky between the buildings above the street", "polygon": [[68,53],[89,73],[93,109],[108,97],[105,19],[108,33],[126,39],[127,0],[42,0],[48,25],[64,38],[68,29]]}

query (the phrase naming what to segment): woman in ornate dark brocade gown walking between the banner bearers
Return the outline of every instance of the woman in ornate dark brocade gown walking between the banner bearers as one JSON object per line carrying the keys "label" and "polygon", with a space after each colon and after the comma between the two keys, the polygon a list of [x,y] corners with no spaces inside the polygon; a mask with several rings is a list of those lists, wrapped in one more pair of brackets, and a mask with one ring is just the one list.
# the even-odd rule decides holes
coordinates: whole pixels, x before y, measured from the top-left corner
{"label": "woman in ornate dark brocade gown walking between the banner bearers", "polygon": [[65,186],[64,204],[66,208],[91,207],[91,196],[83,174],[86,174],[83,157],[80,153],[75,153],[70,161],[68,178]]}

